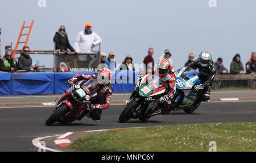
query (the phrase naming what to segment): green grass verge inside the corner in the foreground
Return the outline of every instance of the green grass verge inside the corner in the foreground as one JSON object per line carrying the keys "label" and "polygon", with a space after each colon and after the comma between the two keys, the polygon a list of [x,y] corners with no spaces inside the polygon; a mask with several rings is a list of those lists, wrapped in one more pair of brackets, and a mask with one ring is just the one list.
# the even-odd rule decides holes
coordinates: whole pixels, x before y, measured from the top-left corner
{"label": "green grass verge inside the corner in the foreground", "polygon": [[80,137],[75,151],[255,151],[256,123],[208,123],[127,128]]}

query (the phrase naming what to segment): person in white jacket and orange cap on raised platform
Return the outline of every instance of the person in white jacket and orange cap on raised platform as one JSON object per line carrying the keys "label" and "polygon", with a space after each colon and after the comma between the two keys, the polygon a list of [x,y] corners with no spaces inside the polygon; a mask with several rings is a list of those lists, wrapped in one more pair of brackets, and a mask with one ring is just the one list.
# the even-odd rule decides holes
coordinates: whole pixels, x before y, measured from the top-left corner
{"label": "person in white jacket and orange cap on raised platform", "polygon": [[[76,37],[74,49],[77,53],[91,53],[92,49],[101,43],[101,37],[92,31],[92,24],[90,22],[85,24],[85,30],[79,32]],[[84,68],[88,65],[88,55],[78,55],[77,64],[79,68]]]}

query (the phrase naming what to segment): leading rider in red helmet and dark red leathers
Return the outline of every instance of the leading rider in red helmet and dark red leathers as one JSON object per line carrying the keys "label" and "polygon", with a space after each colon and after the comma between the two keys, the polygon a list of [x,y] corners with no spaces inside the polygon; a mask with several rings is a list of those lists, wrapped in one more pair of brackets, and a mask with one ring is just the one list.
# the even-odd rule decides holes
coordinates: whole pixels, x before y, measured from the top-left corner
{"label": "leading rider in red helmet and dark red leathers", "polygon": [[97,98],[89,105],[91,110],[87,110],[77,120],[81,120],[85,115],[88,118],[92,118],[95,121],[101,119],[102,109],[109,107],[109,103],[112,99],[113,86],[110,83],[111,73],[109,69],[103,68],[98,72],[98,75],[84,75],[77,74],[75,77],[68,80],[69,86],[80,80],[95,79],[98,81]]}

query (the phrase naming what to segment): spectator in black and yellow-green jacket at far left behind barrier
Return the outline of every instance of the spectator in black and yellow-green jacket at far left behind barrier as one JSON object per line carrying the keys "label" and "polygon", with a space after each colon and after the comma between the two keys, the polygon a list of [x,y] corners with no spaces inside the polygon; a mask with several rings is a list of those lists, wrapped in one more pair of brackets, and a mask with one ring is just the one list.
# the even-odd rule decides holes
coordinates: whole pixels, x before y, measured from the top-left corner
{"label": "spectator in black and yellow-green jacket at far left behind barrier", "polygon": [[11,51],[7,51],[5,57],[0,59],[0,70],[4,72],[15,72],[18,70],[18,62],[11,57]]}

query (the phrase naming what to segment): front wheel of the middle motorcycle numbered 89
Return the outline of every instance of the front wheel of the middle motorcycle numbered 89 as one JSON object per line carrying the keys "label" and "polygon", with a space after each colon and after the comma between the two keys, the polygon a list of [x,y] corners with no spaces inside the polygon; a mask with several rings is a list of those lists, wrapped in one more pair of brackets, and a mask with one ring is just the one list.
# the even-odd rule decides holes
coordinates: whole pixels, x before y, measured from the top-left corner
{"label": "front wheel of the middle motorcycle numbered 89", "polygon": [[134,107],[137,106],[137,102],[133,99],[130,103],[128,103],[125,107],[125,109],[122,111],[122,113],[119,116],[119,122],[125,123],[131,118],[131,110],[133,110]]}

